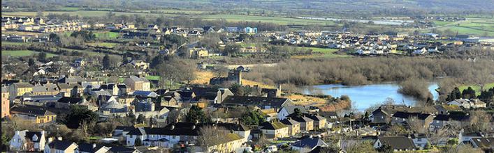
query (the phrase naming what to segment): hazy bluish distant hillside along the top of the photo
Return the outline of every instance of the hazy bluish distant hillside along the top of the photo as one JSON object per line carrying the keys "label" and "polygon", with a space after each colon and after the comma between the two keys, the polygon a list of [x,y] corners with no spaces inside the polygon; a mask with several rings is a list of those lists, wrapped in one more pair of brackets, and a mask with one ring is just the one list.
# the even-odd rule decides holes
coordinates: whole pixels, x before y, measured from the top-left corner
{"label": "hazy bluish distant hillside along the top of the photo", "polygon": [[[281,15],[321,14],[412,14],[413,13],[494,13],[492,0],[3,0],[3,6],[17,8],[50,9],[54,6],[160,9],[176,8],[215,12],[249,10],[252,13],[267,11]],[[48,5],[48,6],[44,6]]]}

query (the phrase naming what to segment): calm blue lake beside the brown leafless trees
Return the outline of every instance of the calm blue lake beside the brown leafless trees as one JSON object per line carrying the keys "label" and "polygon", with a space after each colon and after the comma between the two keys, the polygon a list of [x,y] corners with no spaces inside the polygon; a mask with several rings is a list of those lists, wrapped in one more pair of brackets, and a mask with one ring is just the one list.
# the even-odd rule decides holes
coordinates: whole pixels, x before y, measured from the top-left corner
{"label": "calm blue lake beside the brown leafless trees", "polygon": [[[437,83],[430,83],[429,91],[433,94],[434,99],[439,95],[435,91]],[[364,86],[344,86],[341,84],[327,84],[317,86],[306,86],[303,90],[304,94],[323,94],[333,97],[348,95],[358,111],[364,111],[365,108],[386,101],[386,98],[392,98],[396,104],[414,105],[416,99],[402,95],[398,92],[397,83],[381,83]]]}

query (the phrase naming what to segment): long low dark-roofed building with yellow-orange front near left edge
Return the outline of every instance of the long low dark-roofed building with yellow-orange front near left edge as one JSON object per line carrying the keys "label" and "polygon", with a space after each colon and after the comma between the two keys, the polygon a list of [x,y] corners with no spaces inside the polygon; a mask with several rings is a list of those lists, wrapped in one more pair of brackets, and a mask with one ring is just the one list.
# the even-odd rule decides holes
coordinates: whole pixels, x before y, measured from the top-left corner
{"label": "long low dark-roofed building with yellow-orange front near left edge", "polygon": [[26,120],[33,120],[35,123],[51,122],[57,118],[55,113],[38,106],[18,105],[10,108],[10,113]]}

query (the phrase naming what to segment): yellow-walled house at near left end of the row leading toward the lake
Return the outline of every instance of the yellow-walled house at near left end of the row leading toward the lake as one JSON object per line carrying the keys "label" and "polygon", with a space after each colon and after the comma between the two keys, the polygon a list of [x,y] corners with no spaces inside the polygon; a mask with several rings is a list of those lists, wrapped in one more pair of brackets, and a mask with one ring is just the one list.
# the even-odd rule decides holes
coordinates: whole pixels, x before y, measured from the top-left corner
{"label": "yellow-walled house at near left end of the row leading toward the lake", "polygon": [[289,136],[289,127],[281,122],[263,122],[259,125],[266,138],[284,138]]}

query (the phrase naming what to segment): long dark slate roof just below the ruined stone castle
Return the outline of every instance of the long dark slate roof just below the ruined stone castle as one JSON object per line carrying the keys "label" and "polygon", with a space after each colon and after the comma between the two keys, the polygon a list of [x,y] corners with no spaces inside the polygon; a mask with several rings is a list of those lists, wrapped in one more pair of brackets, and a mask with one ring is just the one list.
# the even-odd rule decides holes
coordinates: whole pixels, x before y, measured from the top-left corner
{"label": "long dark slate roof just below the ruined stone castle", "polygon": [[223,104],[240,106],[273,106],[281,108],[282,106],[290,105],[291,100],[276,97],[228,96],[224,99]]}

